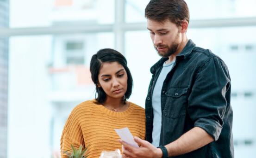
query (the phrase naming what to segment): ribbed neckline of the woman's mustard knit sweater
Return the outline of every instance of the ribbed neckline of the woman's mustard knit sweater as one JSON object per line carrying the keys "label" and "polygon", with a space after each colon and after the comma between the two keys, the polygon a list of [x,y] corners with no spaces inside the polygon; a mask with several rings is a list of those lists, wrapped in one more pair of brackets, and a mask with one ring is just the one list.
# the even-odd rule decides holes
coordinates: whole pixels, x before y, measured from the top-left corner
{"label": "ribbed neckline of the woman's mustard knit sweater", "polygon": [[109,110],[107,109],[104,105],[102,104],[96,104],[96,100],[93,99],[92,100],[93,104],[96,105],[100,111],[102,111],[104,114],[106,114],[107,116],[110,116],[110,117],[118,117],[118,118],[124,118],[124,117],[127,117],[131,114],[131,112],[134,110],[134,105],[132,102],[130,102],[130,105],[128,107],[128,109],[126,109],[125,111],[122,111],[122,112],[116,112],[116,111],[112,111],[112,110]]}

